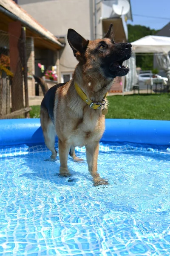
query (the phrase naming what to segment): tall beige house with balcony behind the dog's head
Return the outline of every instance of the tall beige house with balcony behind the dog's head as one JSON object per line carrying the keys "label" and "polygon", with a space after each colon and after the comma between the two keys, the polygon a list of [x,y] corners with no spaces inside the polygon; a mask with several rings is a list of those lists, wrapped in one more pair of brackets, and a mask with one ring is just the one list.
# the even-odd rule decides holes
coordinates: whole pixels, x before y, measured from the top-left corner
{"label": "tall beige house with balcony behind the dog's head", "polygon": [[[127,1],[130,3],[130,0]],[[86,39],[94,40],[102,38],[110,23],[113,23],[115,41],[128,40],[126,21],[132,20],[131,6],[126,15],[117,15],[112,6],[118,2],[119,0],[17,0],[20,6],[60,41],[65,41],[65,48],[59,52],[58,82],[70,80],[77,65],[66,38],[68,28],[75,29]],[[114,90],[122,90],[123,82],[124,78],[118,78]]]}

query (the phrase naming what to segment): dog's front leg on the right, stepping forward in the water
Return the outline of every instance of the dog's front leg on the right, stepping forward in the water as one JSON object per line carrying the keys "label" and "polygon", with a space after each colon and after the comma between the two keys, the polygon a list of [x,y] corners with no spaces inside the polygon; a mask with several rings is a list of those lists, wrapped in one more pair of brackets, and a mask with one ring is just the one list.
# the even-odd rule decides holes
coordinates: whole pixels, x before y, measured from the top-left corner
{"label": "dog's front leg on the right, stepping forward in the water", "polygon": [[93,177],[94,186],[108,184],[108,181],[105,179],[102,179],[99,173],[97,173],[98,154],[99,154],[99,142],[86,145],[86,158],[88,162],[88,170]]}

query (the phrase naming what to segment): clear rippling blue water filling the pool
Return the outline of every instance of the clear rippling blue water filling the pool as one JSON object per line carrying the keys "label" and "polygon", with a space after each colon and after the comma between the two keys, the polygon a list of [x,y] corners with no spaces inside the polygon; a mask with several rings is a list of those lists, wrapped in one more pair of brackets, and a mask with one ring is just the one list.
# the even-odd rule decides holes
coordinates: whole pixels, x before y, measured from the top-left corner
{"label": "clear rippling blue water filling the pool", "polygon": [[98,187],[87,163],[69,157],[62,178],[49,156],[0,158],[0,255],[170,255],[169,154],[101,144]]}

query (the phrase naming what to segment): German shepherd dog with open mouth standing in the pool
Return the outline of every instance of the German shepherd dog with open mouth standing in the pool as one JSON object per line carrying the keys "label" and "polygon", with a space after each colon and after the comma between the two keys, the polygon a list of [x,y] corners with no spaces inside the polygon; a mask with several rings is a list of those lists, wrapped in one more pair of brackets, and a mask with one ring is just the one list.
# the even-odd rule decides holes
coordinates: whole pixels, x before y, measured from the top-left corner
{"label": "German shepherd dog with open mouth standing in the pool", "polygon": [[68,176],[68,154],[79,161],[75,147],[86,147],[88,170],[95,186],[108,184],[97,173],[99,141],[105,131],[105,95],[116,76],[125,76],[128,67],[123,61],[130,58],[130,43],[115,43],[111,24],[103,39],[85,40],[74,29],[68,29],[70,44],[78,64],[70,81],[48,90],[43,79],[35,77],[42,87],[40,122],[46,146],[55,159],[55,136],[58,137],[60,175]]}

